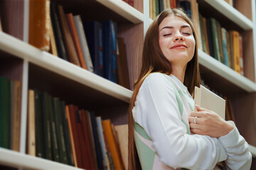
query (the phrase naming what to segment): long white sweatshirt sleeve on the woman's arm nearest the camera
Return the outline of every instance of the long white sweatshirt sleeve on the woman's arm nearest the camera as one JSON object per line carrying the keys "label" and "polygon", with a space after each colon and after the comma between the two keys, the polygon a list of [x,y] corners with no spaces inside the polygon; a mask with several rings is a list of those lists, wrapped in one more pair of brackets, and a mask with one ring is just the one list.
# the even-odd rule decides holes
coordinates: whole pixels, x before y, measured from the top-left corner
{"label": "long white sweatshirt sleeve on the woman's arm nearest the camera", "polygon": [[186,133],[174,89],[166,77],[147,77],[134,108],[134,120],[151,137],[152,147],[164,164],[173,168],[213,169],[227,158],[217,138]]}

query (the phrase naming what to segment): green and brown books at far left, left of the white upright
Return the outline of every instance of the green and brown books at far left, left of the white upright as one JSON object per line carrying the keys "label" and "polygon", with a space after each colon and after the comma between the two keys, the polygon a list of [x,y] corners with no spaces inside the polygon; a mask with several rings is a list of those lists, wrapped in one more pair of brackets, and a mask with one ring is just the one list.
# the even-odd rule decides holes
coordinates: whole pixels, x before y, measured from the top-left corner
{"label": "green and brown books at far left, left of the white upright", "polygon": [[0,147],[20,149],[21,81],[0,77]]}

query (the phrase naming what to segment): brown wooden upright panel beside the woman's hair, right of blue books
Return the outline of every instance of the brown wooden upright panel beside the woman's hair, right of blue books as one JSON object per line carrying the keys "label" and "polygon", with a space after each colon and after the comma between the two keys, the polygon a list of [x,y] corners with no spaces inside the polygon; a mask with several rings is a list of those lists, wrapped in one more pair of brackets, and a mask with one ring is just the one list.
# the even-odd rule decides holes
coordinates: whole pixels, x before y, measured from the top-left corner
{"label": "brown wooden upright panel beside the woman's hair, right of blue books", "polygon": [[143,23],[137,25],[123,24],[118,27],[118,36],[124,38],[127,47],[127,62],[129,69],[129,81],[133,90],[134,81],[139,77],[142,67],[143,51]]}

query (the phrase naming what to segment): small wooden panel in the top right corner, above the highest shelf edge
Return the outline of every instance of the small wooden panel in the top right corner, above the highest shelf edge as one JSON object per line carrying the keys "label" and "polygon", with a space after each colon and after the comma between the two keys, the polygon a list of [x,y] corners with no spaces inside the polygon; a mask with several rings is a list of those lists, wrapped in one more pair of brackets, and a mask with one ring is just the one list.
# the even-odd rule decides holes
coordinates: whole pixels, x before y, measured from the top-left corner
{"label": "small wooden panel in the top right corner, above the highest shelf edge", "polygon": [[233,0],[233,6],[244,16],[252,20],[252,2],[254,0]]}

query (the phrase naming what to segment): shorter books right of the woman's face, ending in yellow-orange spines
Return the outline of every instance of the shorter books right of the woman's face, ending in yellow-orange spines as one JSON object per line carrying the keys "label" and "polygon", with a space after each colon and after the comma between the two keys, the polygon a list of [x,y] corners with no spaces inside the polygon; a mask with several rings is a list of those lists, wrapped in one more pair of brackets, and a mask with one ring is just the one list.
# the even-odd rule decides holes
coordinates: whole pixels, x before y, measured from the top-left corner
{"label": "shorter books right of the woman's face, ending in yellow-orange spines", "polygon": [[215,18],[199,13],[203,52],[235,70],[243,72],[242,36],[236,30],[226,30]]}

